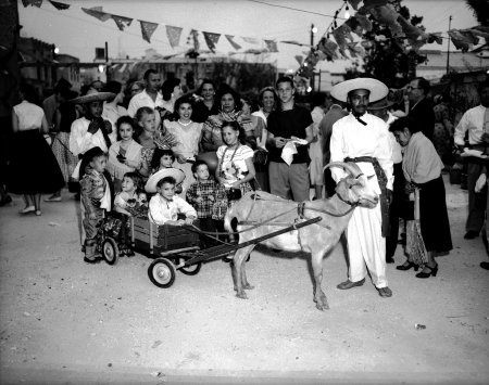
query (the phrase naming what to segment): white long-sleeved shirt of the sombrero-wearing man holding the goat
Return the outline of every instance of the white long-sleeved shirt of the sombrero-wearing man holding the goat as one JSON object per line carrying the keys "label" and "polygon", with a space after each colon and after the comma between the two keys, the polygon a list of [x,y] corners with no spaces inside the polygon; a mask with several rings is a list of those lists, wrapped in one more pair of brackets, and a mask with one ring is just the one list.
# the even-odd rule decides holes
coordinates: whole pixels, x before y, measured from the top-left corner
{"label": "white long-sleeved shirt of the sombrero-wearing man holding the goat", "polygon": [[[346,157],[372,156],[377,158],[387,177],[387,189],[392,190],[393,163],[387,124],[371,114],[362,115],[363,126],[350,114],[333,125],[330,142],[331,162],[344,162]],[[359,163],[360,169],[369,179],[372,188],[380,194],[377,176],[371,163]],[[338,182],[347,176],[339,167],[331,168],[333,178]]]}

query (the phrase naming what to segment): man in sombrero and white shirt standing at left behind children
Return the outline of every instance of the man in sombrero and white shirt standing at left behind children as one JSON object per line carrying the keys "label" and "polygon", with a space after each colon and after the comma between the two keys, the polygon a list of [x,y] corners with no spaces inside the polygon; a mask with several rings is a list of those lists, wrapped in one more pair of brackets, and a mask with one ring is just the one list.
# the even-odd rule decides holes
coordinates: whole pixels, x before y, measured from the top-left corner
{"label": "man in sombrero and white shirt standing at left behind children", "polygon": [[[72,99],[74,104],[84,104],[85,116],[76,119],[72,124],[70,133],[70,151],[73,155],[82,156],[92,147],[100,147],[108,152],[109,147],[116,140],[116,132],[112,130],[112,123],[102,119],[102,102],[112,100],[115,93],[98,92],[95,89],[88,90],[84,97]],[[78,179],[79,165],[76,166],[73,178]]]}

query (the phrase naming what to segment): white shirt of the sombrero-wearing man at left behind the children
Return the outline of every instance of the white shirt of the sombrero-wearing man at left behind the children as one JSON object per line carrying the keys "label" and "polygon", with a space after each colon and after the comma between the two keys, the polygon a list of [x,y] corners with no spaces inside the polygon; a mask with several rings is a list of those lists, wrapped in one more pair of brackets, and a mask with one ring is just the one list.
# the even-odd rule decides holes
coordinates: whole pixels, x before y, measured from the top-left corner
{"label": "white shirt of the sombrero-wearing man at left behind the children", "polygon": [[[78,156],[79,154],[85,154],[88,150],[92,147],[100,147],[103,152],[108,152],[105,139],[100,130],[96,133],[88,132],[88,126],[90,120],[85,117],[80,117],[72,123],[72,129],[70,134],[70,151],[73,155]],[[116,134],[115,131],[109,133],[109,139],[112,143],[115,142]]]}

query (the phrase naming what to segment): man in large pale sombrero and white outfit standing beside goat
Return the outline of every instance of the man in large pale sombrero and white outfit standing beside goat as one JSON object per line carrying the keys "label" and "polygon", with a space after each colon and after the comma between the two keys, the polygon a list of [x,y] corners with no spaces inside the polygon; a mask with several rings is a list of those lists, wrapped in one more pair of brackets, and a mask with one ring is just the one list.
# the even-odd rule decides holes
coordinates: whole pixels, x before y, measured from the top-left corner
{"label": "man in large pale sombrero and white outfit standing beside goat", "polygon": [[[331,97],[346,102],[350,114],[333,126],[331,162],[354,162],[367,177],[371,188],[380,195],[375,208],[356,207],[348,223],[349,279],[337,287],[348,290],[365,282],[367,269],[381,297],[392,296],[386,277],[386,239],[388,206],[392,195],[392,150],[387,125],[367,113],[369,102],[384,99],[387,87],[376,79],[358,78],[336,85]],[[333,169],[338,182],[347,175]]]}

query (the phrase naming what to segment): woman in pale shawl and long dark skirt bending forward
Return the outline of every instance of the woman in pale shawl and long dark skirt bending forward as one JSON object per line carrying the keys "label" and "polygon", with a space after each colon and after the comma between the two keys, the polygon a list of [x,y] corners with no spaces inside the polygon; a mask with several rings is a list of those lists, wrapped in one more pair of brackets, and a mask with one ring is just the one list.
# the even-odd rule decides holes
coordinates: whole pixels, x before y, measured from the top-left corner
{"label": "woman in pale shawl and long dark skirt bending forward", "polygon": [[[437,254],[446,254],[452,249],[444,184],[441,178],[443,163],[431,141],[409,117],[394,120],[389,130],[393,132],[399,144],[404,147],[402,159],[404,177],[419,192],[421,232],[428,252],[428,262],[416,277],[436,277],[438,264],[435,257]],[[408,258],[397,269],[409,270],[412,267],[417,270],[417,266]]]}

